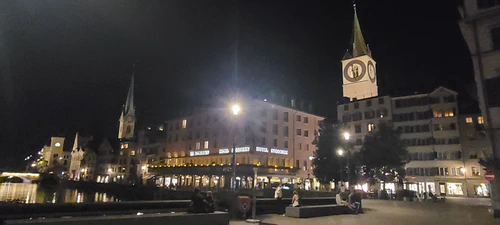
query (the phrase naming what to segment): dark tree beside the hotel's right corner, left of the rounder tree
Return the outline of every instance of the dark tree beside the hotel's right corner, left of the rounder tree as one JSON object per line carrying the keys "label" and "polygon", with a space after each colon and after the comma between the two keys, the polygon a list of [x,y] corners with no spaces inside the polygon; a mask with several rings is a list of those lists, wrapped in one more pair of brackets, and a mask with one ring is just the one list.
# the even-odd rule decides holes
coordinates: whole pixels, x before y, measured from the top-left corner
{"label": "dark tree beside the hotel's right corner, left of the rounder tree", "polygon": [[333,180],[338,181],[341,177],[342,169],[336,154],[337,149],[342,148],[343,144],[340,131],[338,124],[328,120],[324,120],[320,125],[318,149],[314,152],[313,173],[323,185],[328,185]]}

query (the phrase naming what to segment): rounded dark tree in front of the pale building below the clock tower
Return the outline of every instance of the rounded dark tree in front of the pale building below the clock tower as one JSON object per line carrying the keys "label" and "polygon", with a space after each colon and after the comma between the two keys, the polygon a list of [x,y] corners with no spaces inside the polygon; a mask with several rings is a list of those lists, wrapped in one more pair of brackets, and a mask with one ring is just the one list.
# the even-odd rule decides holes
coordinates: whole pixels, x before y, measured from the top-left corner
{"label": "rounded dark tree in front of the pale building below the clock tower", "polygon": [[404,165],[407,163],[408,151],[401,140],[401,133],[392,126],[381,123],[372,133],[366,135],[360,151],[365,176],[385,183],[402,182],[405,176]]}

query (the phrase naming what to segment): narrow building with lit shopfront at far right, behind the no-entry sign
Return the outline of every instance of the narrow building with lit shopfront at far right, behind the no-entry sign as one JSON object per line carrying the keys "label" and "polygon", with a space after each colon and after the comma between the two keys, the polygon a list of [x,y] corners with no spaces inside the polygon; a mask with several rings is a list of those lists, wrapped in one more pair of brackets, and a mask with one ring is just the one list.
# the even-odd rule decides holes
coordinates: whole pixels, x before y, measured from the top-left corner
{"label": "narrow building with lit shopfront at far right, behind the no-entry sign", "polygon": [[484,178],[484,167],[479,165],[479,159],[491,155],[491,142],[484,129],[484,117],[479,114],[459,116],[460,142],[462,143],[462,157],[464,161],[469,197],[489,196],[489,182]]}

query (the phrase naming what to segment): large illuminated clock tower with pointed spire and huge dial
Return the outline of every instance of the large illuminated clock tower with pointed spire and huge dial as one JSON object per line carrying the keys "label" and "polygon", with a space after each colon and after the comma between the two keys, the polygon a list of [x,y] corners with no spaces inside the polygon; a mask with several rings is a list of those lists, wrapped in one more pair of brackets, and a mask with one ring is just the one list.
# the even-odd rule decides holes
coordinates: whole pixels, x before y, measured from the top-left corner
{"label": "large illuminated clock tower with pointed spire and huge dial", "polygon": [[365,44],[354,4],[351,46],[342,59],[342,89],[351,101],[378,96],[376,62]]}

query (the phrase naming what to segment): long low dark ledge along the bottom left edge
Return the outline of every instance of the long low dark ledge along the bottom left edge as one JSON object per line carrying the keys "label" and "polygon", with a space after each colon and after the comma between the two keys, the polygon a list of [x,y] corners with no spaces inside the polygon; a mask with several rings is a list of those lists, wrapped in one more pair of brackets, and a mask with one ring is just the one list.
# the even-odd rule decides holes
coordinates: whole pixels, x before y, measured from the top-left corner
{"label": "long low dark ledge along the bottom left edge", "polygon": [[37,218],[23,220],[5,220],[4,225],[229,225],[229,214],[226,212],[214,213],[161,213],[144,215],[116,215],[116,216],[89,216],[71,218]]}

